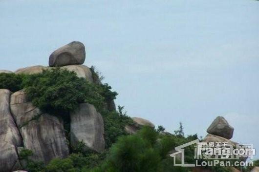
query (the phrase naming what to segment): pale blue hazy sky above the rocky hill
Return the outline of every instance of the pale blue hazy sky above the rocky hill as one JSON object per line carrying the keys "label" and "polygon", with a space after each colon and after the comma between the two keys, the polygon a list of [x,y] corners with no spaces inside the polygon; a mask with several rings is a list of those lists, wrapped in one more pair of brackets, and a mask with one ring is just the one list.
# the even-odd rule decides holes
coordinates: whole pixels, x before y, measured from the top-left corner
{"label": "pale blue hazy sky above the rocky hill", "polygon": [[73,40],[129,116],[204,137],[221,115],[259,150],[259,1],[0,0],[0,70]]}

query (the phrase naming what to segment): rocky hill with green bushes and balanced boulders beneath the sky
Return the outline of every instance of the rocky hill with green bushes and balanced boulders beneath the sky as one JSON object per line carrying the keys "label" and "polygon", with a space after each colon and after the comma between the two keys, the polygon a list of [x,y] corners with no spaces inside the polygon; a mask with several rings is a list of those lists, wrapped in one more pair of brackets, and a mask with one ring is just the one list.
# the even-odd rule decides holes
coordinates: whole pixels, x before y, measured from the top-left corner
{"label": "rocky hill with green bushes and balanced boulders beneath the sky", "polygon": [[[74,41],[54,51],[48,67],[0,71],[0,172],[90,172],[95,166],[100,167],[94,172],[104,171],[102,168],[120,172],[120,168],[128,168],[127,164],[121,165],[125,163],[125,155],[121,159],[115,158],[120,154],[116,151],[123,144],[122,138],[129,139],[124,145],[126,154],[132,149],[141,153],[139,157],[132,156],[133,162],[141,162],[140,157],[142,160],[147,158],[144,164],[154,164],[151,172],[156,172],[166,163],[173,147],[197,138],[197,135],[184,137],[163,129],[155,130],[155,125],[146,119],[129,118],[122,107],[116,111],[116,94],[101,82],[94,68],[83,65],[85,58],[84,44]],[[64,82],[59,83],[58,78],[63,78]],[[151,131],[145,133],[143,129],[138,133],[144,126]],[[213,121],[207,132],[205,142],[237,144],[229,140],[234,129],[221,116]],[[134,136],[127,137],[129,134]],[[125,137],[118,140],[120,136]],[[146,137],[152,139],[145,141]],[[139,143],[142,139],[144,141]],[[156,140],[162,141],[157,143]],[[130,146],[132,148],[128,148]],[[149,159],[153,155],[156,161]],[[109,165],[102,165],[103,162]],[[135,166],[139,166],[135,172],[151,168]],[[132,168],[134,165],[129,165],[129,171]]]}

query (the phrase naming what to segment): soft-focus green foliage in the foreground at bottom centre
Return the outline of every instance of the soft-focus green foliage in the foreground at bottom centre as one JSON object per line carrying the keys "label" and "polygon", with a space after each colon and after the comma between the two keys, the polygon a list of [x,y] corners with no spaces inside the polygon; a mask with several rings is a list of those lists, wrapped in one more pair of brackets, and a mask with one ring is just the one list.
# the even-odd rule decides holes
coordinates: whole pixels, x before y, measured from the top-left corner
{"label": "soft-focus green foliage in the foreground at bottom centre", "polygon": [[103,164],[90,172],[188,172],[173,166],[173,158],[168,156],[179,139],[187,141],[144,127],[137,134],[120,137]]}

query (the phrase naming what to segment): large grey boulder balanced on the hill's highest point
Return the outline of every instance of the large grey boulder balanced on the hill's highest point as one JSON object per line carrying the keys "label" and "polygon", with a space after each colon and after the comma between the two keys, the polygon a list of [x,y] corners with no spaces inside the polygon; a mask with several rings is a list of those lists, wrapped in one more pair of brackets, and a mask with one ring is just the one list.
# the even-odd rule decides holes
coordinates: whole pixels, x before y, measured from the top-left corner
{"label": "large grey boulder balanced on the hill's highest point", "polygon": [[86,50],[83,43],[73,41],[55,50],[49,56],[49,66],[66,66],[70,64],[83,64],[86,59]]}

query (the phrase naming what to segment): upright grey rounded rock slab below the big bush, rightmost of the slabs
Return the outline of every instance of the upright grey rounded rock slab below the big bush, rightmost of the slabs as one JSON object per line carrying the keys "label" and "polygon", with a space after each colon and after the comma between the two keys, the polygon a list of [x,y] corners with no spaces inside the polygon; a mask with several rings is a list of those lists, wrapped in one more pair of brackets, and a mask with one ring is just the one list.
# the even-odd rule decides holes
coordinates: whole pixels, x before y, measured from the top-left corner
{"label": "upright grey rounded rock slab below the big bush, rightmost of the slabs", "polygon": [[70,138],[73,146],[83,141],[89,149],[97,152],[104,151],[104,122],[93,105],[80,104],[78,109],[70,114],[70,118]]}

